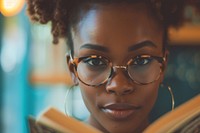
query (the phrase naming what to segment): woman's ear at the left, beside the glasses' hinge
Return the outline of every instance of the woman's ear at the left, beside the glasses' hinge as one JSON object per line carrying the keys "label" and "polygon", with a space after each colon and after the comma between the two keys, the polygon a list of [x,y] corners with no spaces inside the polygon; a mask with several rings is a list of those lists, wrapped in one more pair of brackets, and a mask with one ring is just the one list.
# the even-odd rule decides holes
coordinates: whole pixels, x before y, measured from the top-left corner
{"label": "woman's ear at the left, beside the glasses' hinge", "polygon": [[71,78],[72,78],[72,81],[73,81],[74,85],[78,85],[78,78],[77,78],[77,76],[76,76],[75,66],[74,66],[74,64],[71,62],[70,55],[68,55],[68,54],[66,54],[66,61],[67,61],[67,66],[68,66],[69,73],[70,73],[70,76],[71,76]]}

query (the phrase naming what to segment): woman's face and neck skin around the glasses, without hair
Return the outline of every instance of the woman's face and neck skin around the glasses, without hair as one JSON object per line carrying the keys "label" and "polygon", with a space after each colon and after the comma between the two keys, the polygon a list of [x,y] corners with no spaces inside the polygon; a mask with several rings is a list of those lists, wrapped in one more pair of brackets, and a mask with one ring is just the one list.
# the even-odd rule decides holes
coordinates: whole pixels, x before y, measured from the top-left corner
{"label": "woman's face and neck skin around the glasses, without hair", "polygon": [[[113,65],[126,65],[138,55],[163,56],[163,30],[145,4],[98,5],[87,11],[73,32],[74,57],[101,55]],[[88,45],[89,44],[89,45]],[[116,69],[105,84],[91,87],[78,79],[90,118],[88,122],[103,132],[141,132],[148,125],[162,82],[134,83]]]}

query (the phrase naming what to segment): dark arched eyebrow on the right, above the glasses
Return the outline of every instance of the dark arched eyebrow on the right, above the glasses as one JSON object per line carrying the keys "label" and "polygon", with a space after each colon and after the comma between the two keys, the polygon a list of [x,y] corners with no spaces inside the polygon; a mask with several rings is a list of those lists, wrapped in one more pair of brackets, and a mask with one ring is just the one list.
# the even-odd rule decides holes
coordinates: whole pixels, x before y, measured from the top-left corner
{"label": "dark arched eyebrow on the right, above the glasses", "polygon": [[130,46],[128,48],[128,51],[135,51],[135,50],[138,50],[140,48],[143,48],[143,47],[154,47],[154,48],[157,48],[157,46],[152,42],[152,41],[149,41],[149,40],[146,40],[146,41],[143,41],[143,42],[139,42],[137,44],[134,44],[132,46]]}

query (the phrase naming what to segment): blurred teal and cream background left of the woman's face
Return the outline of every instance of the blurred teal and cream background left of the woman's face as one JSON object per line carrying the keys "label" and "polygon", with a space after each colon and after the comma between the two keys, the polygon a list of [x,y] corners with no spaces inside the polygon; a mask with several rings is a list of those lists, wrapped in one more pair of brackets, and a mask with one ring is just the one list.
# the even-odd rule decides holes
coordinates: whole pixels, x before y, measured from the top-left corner
{"label": "blurred teal and cream background left of the woman's face", "polygon": [[12,17],[0,14],[0,133],[27,133],[28,116],[49,106],[65,112],[65,100],[70,115],[86,119],[79,90],[65,98],[71,86],[66,46],[51,41],[50,25],[30,23],[25,9]]}

